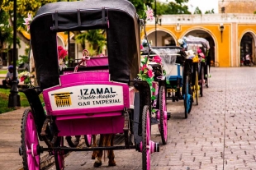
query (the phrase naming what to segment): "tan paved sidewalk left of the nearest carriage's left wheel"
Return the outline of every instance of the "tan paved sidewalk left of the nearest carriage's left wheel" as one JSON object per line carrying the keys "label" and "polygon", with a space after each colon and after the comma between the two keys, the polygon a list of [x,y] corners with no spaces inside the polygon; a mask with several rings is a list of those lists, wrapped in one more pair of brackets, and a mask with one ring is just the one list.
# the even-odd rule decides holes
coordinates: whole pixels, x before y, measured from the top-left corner
{"label": "tan paved sidewalk left of the nearest carriage's left wheel", "polygon": [[[30,108],[30,107],[27,107]],[[0,169],[23,170],[22,157],[19,155],[21,146],[21,118],[26,108],[0,114]],[[40,145],[45,146],[44,142]],[[50,163],[54,158],[47,152],[41,154],[41,167]]]}

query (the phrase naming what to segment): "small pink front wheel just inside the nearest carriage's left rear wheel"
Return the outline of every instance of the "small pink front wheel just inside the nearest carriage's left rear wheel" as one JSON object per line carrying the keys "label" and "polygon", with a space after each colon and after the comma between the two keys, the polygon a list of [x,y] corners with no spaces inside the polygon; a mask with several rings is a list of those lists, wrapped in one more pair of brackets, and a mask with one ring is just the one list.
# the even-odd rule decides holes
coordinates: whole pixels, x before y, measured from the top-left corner
{"label": "small pink front wheel just inside the nearest carriage's left rear wheel", "polygon": [[[55,147],[64,146],[64,137],[58,137]],[[55,167],[56,170],[64,170],[64,150],[55,150]]]}

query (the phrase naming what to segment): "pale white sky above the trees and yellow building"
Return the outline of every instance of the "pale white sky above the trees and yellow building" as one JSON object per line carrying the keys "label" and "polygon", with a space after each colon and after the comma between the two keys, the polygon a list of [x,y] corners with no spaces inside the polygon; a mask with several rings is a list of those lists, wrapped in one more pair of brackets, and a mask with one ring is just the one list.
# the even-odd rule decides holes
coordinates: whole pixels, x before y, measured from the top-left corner
{"label": "pale white sky above the trees and yellow building", "polygon": [[[173,0],[159,0],[160,2],[171,2]],[[194,13],[196,7],[199,7],[201,12],[204,14],[205,11],[211,11],[214,9],[214,13],[218,11],[218,0],[189,0],[187,3],[188,10]]]}

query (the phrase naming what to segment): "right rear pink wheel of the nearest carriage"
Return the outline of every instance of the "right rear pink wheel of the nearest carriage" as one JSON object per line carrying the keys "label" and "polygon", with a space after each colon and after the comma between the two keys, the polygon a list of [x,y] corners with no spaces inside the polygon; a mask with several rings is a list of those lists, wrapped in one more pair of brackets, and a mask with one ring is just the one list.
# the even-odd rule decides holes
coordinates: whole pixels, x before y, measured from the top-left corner
{"label": "right rear pink wheel of the nearest carriage", "polygon": [[149,106],[144,106],[142,113],[142,169],[150,169],[150,118]]}

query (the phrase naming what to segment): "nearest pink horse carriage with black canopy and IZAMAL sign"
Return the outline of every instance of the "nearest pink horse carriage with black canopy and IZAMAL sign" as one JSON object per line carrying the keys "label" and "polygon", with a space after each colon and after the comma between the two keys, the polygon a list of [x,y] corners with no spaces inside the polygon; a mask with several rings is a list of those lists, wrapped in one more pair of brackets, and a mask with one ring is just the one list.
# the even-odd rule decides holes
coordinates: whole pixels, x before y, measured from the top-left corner
{"label": "nearest pink horse carriage with black canopy and IZAMAL sign", "polygon": [[[60,170],[69,151],[115,149],[141,152],[142,169],[150,169],[150,154],[159,152],[159,144],[150,140],[151,125],[159,124],[166,144],[168,116],[164,76],[154,80],[154,92],[146,80],[138,79],[141,24],[135,7],[125,0],[55,2],[40,7],[31,22],[39,86],[23,90],[31,104],[21,122],[24,169],[40,169],[44,151],[55,155]],[[57,32],[97,29],[107,33],[107,56],[91,57],[86,67],[80,66],[82,61],[76,68],[59,71]],[[116,133],[124,134],[125,145],[64,146],[64,136],[85,135],[90,146],[92,135]],[[39,141],[45,141],[47,147]]]}

